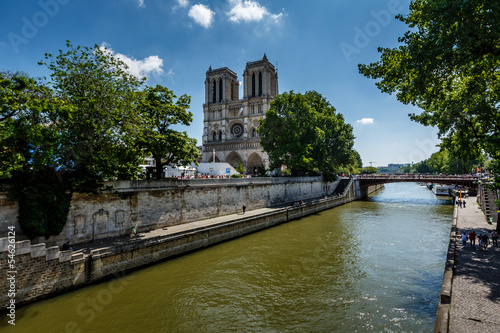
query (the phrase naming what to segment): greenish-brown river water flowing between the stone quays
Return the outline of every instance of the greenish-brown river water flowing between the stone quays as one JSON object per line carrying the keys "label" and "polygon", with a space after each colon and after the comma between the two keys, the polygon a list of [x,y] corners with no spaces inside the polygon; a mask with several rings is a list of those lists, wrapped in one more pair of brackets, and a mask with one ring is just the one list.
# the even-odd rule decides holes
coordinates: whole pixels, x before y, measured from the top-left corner
{"label": "greenish-brown river water flowing between the stone quays", "polygon": [[432,332],[453,206],[416,183],[17,310],[2,332]]}

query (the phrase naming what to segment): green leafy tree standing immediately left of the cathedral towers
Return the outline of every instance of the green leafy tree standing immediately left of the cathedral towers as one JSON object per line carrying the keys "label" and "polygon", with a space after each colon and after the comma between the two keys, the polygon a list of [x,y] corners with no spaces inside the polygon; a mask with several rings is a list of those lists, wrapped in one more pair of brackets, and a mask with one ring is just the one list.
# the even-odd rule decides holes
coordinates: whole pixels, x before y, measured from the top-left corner
{"label": "green leafy tree standing immediately left of the cathedral towers", "polygon": [[189,125],[193,114],[188,111],[191,97],[177,98],[168,88],[157,85],[146,87],[140,94],[138,113],[140,115],[140,145],[153,155],[156,162],[156,179],[162,177],[164,165],[188,165],[199,155],[196,139],[186,132],[175,131],[171,126]]}

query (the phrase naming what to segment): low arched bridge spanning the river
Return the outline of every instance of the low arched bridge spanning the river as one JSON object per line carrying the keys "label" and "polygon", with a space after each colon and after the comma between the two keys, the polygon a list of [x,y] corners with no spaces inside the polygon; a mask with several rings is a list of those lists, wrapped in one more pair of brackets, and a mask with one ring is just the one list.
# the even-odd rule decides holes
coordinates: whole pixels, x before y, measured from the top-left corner
{"label": "low arched bridge spanning the river", "polygon": [[431,184],[447,184],[466,187],[469,190],[477,191],[477,176],[436,176],[423,174],[385,174],[385,175],[361,175],[358,176],[360,188],[366,188],[371,185],[400,182],[417,182]]}

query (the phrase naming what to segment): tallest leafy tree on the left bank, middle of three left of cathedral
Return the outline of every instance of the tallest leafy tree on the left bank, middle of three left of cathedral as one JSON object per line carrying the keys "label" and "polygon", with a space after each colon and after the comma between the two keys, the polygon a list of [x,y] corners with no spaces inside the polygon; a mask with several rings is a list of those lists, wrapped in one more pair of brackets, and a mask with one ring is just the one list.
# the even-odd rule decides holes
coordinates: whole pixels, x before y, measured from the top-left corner
{"label": "tallest leafy tree on the left bank, middle of three left of cathedral", "polygon": [[137,177],[142,152],[135,145],[134,97],[143,80],[97,45],[66,46],[39,63],[52,71],[58,98],[71,105],[58,112],[58,170],[81,192],[97,190],[106,179]]}

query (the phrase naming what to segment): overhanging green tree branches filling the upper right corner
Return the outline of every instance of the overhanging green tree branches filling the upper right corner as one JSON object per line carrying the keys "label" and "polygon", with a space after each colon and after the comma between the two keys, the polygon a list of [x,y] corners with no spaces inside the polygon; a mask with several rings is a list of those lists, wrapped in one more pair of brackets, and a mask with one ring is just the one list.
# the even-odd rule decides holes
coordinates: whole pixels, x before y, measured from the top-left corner
{"label": "overhanging green tree branches filling the upper right corner", "polygon": [[410,118],[436,126],[442,147],[462,159],[500,157],[500,2],[415,0],[411,31],[381,59],[359,65],[377,87],[420,107]]}

